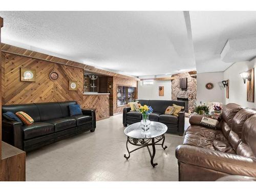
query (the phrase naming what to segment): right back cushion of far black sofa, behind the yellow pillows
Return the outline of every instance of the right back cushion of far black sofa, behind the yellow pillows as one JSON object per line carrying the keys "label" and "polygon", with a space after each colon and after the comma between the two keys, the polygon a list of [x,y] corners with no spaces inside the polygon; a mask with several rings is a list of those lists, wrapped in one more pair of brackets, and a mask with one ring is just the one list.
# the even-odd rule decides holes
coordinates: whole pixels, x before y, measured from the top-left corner
{"label": "right back cushion of far black sofa, behind the yellow pillows", "polygon": [[153,112],[164,114],[168,106],[173,106],[173,104],[184,106],[184,101],[172,101],[172,100],[150,100],[148,105],[152,106]]}

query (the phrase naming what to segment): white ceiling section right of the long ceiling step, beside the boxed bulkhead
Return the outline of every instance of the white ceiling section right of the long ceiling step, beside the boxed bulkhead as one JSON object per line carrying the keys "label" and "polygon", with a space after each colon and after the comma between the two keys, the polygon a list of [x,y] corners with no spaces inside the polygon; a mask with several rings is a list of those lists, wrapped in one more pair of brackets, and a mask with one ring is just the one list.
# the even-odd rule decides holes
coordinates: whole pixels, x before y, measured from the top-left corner
{"label": "white ceiling section right of the long ceiling step, beside the boxed bulkhead", "polygon": [[227,40],[256,34],[255,11],[190,11],[189,14],[198,73],[226,70],[232,64],[221,60]]}

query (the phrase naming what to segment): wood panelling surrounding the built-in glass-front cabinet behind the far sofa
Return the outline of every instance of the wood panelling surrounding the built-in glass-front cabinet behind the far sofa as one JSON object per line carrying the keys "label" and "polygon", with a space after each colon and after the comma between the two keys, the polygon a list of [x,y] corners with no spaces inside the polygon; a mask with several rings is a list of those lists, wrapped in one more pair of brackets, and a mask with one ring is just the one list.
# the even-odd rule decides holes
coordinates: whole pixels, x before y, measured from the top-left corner
{"label": "wood panelling surrounding the built-in glass-front cabinet behind the far sofa", "polygon": [[[120,77],[113,77],[113,113],[118,114],[123,112],[123,108],[125,106],[117,107],[117,84],[120,84],[122,86],[130,86],[130,87],[136,87],[136,96],[137,99],[138,96],[138,88],[137,88],[137,80],[131,80],[131,79],[125,79]],[[126,105],[128,106],[128,105]]]}

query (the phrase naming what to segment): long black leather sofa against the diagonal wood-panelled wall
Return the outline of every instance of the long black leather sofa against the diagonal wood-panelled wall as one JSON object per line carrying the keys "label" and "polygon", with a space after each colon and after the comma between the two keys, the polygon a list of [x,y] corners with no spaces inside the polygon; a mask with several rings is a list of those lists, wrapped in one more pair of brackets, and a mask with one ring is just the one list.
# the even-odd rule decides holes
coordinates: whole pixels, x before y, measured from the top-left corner
{"label": "long black leather sofa against the diagonal wood-panelled wall", "polygon": [[70,117],[70,104],[77,102],[3,105],[3,113],[23,111],[34,119],[34,123],[22,125],[3,117],[2,140],[28,152],[85,131],[94,132],[95,110],[82,110],[83,115]]}

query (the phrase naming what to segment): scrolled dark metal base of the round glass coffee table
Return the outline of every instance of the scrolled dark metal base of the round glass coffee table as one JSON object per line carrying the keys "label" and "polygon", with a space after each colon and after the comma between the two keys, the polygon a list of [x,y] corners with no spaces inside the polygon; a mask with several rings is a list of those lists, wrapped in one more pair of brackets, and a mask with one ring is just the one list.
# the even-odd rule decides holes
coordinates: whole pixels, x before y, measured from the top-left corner
{"label": "scrolled dark metal base of the round glass coffee table", "polygon": [[[162,143],[159,143],[161,140],[162,140]],[[130,154],[132,152],[135,152],[135,151],[139,150],[140,148],[147,147],[148,153],[150,154],[150,158],[151,158],[151,164],[152,164],[153,167],[155,167],[157,165],[157,163],[154,163],[154,157],[155,157],[155,154],[156,154],[155,145],[161,145],[163,150],[165,150],[167,148],[167,146],[166,145],[163,146],[164,140],[165,140],[164,134],[160,135],[158,137],[150,138],[150,139],[135,139],[135,138],[132,138],[132,137],[127,137],[126,149],[127,149],[127,152],[129,154],[129,156],[126,156],[126,154],[124,154],[123,156],[124,156],[124,158],[129,159]],[[135,148],[132,151],[129,151],[128,143],[130,143],[132,145],[135,145],[135,146],[139,146],[139,147]],[[152,153],[150,151],[149,146],[152,146],[152,150],[153,150]]]}

